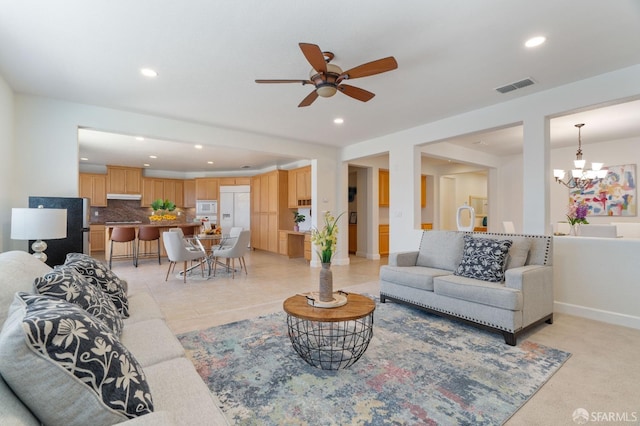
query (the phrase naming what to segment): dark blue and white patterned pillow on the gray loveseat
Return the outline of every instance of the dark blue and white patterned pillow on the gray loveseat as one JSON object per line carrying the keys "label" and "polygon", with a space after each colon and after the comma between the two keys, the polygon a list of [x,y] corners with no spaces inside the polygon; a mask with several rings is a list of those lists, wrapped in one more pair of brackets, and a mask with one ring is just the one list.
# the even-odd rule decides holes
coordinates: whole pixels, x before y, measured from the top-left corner
{"label": "dark blue and white patterned pillow on the gray loveseat", "polygon": [[464,251],[454,275],[483,281],[504,281],[511,240],[464,236]]}

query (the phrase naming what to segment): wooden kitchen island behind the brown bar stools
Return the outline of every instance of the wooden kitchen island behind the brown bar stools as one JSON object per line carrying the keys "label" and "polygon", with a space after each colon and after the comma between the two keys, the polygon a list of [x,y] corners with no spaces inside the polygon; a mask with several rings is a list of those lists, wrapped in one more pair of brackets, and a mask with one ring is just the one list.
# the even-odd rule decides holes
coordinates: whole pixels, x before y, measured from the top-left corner
{"label": "wooden kitchen island behind the brown bar stools", "polygon": [[[104,257],[105,260],[108,262],[109,259],[111,258],[111,233],[113,232],[114,228],[117,227],[122,227],[122,228],[135,228],[136,230],[136,238],[138,235],[138,229],[141,226],[153,226],[153,227],[157,227],[160,228],[160,256],[162,257],[166,257],[167,256],[167,252],[164,249],[164,243],[162,242],[162,233],[163,232],[167,232],[169,231],[169,229],[171,228],[183,228],[183,232],[186,235],[190,235],[190,234],[197,234],[198,231],[200,230],[200,224],[199,223],[186,223],[186,222],[175,222],[175,223],[166,223],[166,222],[162,222],[162,223],[141,223],[141,222],[105,222],[104,224]],[[189,231],[189,228],[191,228],[191,230]],[[137,241],[134,241],[133,243],[134,245],[137,245]],[[155,244],[157,244],[155,241],[140,241],[140,251],[145,253],[145,252],[151,252],[154,251],[155,248]],[[131,250],[131,244],[124,244],[124,243],[116,243],[113,245],[113,255],[114,256],[133,256],[133,252]],[[115,259],[115,257],[114,257]]]}

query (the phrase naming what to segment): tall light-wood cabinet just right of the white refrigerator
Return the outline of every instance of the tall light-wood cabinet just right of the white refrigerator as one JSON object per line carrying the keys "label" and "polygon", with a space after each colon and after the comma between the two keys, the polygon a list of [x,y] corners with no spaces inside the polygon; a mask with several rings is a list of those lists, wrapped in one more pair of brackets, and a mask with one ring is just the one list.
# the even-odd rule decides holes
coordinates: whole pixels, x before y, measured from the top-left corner
{"label": "tall light-wood cabinet just right of the white refrigerator", "polygon": [[291,227],[287,172],[274,170],[251,179],[251,246],[279,252],[279,231]]}

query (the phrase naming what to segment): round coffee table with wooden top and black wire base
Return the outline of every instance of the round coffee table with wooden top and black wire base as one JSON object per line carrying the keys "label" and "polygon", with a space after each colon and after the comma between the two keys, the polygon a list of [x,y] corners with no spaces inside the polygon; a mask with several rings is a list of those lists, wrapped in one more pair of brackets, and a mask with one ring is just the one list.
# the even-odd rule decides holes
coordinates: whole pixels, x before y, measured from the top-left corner
{"label": "round coffee table with wooden top and black wire base", "polygon": [[353,365],[367,350],[373,336],[375,302],[348,293],[337,308],[317,308],[303,295],[283,303],[293,349],[309,365],[338,370]]}

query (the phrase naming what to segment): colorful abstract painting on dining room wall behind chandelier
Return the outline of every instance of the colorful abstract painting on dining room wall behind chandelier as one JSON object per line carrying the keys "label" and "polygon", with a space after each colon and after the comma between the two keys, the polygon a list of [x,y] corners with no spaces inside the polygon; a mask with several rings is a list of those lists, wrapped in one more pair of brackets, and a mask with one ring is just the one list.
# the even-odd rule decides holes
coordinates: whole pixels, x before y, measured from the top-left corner
{"label": "colorful abstract painting on dining room wall behind chandelier", "polygon": [[589,216],[637,216],[636,165],[609,166],[604,179],[594,179],[584,189],[572,189],[574,202],[585,202]]}

